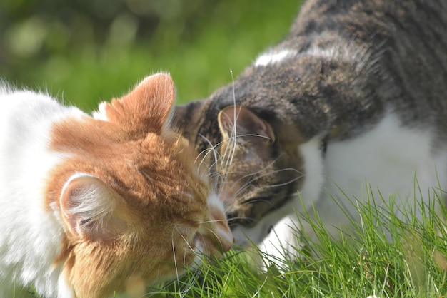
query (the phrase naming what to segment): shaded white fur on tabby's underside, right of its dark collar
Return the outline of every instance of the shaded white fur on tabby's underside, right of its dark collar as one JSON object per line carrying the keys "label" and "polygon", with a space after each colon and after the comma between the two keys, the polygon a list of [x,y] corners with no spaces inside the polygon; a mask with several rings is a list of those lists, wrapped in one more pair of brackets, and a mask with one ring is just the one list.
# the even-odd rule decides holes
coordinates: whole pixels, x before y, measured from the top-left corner
{"label": "shaded white fur on tabby's underside, right of its dark collar", "polygon": [[[430,130],[403,127],[398,117],[388,113],[383,120],[368,133],[352,140],[331,143],[326,154],[326,189],[331,195],[343,200],[341,190],[359,200],[366,200],[366,191],[376,202],[381,195],[398,195],[402,204],[417,200],[428,200],[428,192],[443,186],[447,180],[447,148],[435,148],[436,135]],[[413,192],[415,178],[420,187]],[[336,183],[331,182],[331,180]],[[367,187],[366,183],[371,185]],[[371,197],[371,195],[370,195]],[[381,205],[378,202],[378,205]],[[413,204],[406,205],[407,210]],[[353,206],[346,204],[348,212],[356,213]],[[339,208],[338,208],[339,209]],[[413,210],[421,217],[420,210]],[[328,219],[334,222],[337,217]]]}

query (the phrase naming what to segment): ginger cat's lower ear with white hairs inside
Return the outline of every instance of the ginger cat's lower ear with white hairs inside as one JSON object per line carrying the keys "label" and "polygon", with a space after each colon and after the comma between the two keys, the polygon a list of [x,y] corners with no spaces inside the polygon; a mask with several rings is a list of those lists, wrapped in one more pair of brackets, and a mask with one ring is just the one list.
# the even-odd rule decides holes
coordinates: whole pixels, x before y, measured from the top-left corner
{"label": "ginger cat's lower ear with white hairs inside", "polygon": [[62,189],[61,212],[74,235],[94,240],[116,237],[128,226],[119,214],[123,198],[98,178],[84,173],[71,176]]}

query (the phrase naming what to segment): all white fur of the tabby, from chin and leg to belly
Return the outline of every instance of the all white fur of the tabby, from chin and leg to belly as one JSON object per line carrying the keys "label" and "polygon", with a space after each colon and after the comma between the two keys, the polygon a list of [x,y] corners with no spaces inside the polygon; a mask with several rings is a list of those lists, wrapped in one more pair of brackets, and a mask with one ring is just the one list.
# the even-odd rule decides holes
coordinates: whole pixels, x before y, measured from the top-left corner
{"label": "all white fur of the tabby, from chin and leg to belly", "polygon": [[[333,234],[337,227],[350,222],[328,194],[356,218],[356,207],[347,201],[338,187],[349,197],[364,202],[368,182],[371,187],[367,190],[373,193],[377,205],[382,204],[380,190],[383,197],[400,195],[401,200],[396,203],[400,207],[405,205],[408,210],[414,197],[428,200],[428,192],[433,194],[438,181],[443,183],[447,179],[447,148],[436,150],[433,148],[435,135],[431,131],[404,127],[393,113],[388,113],[375,128],[356,138],[328,143],[324,161],[317,140],[310,140],[298,148],[306,172],[301,189],[303,202],[298,196],[293,197],[286,205],[263,217],[255,227],[236,228],[233,231],[236,243],[247,245],[248,236],[263,252],[283,260],[289,252],[296,252],[301,247],[296,232],[304,231],[313,236],[306,222],[301,222],[303,226],[300,226],[296,220],[296,215],[303,212],[303,205],[309,215],[313,215],[315,208],[323,225]],[[413,193],[415,177],[423,197],[418,192]],[[413,211],[416,216],[421,216],[420,210]]]}

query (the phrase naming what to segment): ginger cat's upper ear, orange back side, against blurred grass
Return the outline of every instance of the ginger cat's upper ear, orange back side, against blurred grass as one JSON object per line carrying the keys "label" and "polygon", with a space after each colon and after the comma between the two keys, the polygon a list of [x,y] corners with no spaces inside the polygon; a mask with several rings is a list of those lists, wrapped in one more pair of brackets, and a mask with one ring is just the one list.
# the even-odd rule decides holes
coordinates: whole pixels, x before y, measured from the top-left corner
{"label": "ginger cat's upper ear, orange back side, against blurred grass", "polygon": [[95,118],[130,130],[161,133],[171,121],[175,86],[169,73],[146,77],[132,91],[111,103],[101,103]]}

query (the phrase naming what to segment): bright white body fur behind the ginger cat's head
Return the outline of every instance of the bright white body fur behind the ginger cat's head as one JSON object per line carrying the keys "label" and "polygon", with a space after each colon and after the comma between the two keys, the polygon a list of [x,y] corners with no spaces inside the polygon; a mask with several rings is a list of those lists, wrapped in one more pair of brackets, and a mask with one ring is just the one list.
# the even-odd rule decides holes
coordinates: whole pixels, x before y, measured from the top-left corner
{"label": "bright white body fur behind the ginger cat's head", "polygon": [[44,297],[72,297],[61,268],[63,227],[44,205],[48,171],[64,159],[49,152],[52,123],[74,115],[42,93],[0,87],[0,297],[33,284]]}

